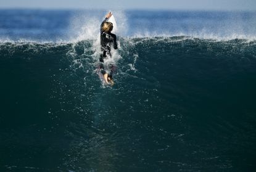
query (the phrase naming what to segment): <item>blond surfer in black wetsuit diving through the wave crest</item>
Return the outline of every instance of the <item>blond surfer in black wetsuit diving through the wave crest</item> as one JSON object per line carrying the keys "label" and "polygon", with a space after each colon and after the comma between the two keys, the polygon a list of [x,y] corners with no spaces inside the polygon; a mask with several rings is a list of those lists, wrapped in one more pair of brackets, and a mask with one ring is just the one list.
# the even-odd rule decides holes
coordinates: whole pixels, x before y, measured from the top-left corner
{"label": "blond surfer in black wetsuit diving through the wave crest", "polygon": [[112,78],[112,67],[110,67],[110,72],[107,73],[104,70],[104,59],[106,57],[111,57],[110,50],[112,47],[114,49],[117,49],[117,36],[115,34],[111,33],[113,30],[113,23],[107,22],[107,20],[111,17],[112,12],[109,12],[107,15],[105,15],[105,19],[101,23],[101,57],[99,58],[99,61],[101,62],[99,65],[99,68],[101,70],[102,75],[104,75],[104,80],[110,84],[114,84],[113,78]]}

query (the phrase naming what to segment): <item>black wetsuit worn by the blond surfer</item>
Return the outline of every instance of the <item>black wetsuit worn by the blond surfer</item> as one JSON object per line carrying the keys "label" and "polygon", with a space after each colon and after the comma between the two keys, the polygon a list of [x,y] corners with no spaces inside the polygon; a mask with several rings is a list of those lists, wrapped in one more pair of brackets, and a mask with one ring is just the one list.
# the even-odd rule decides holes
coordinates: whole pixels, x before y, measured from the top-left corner
{"label": "black wetsuit worn by the blond surfer", "polygon": [[[117,36],[115,36],[115,34],[113,33],[105,33],[102,30],[102,26],[104,25],[104,23],[107,22],[107,18],[105,18],[105,20],[103,20],[103,22],[101,23],[101,57],[99,58],[99,61],[101,62],[99,65],[99,68],[101,69],[101,73],[102,75],[104,75],[106,72],[104,70],[104,59],[105,57],[107,57],[107,55],[109,55],[111,57],[111,47],[114,47],[114,49],[117,49]],[[112,71],[110,71],[109,73],[110,77],[112,75]]]}

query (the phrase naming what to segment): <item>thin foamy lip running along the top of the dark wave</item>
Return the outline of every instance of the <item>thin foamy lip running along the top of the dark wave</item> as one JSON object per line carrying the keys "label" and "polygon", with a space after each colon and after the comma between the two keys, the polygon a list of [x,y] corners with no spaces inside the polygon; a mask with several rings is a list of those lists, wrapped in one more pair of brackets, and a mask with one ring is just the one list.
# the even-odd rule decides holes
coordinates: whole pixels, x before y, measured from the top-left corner
{"label": "thin foamy lip running along the top of the dark wave", "polygon": [[[148,49],[157,51],[157,48],[162,49],[164,52],[169,51],[170,49],[184,49],[189,50],[192,47],[198,47],[205,51],[213,50],[215,51],[231,51],[231,49],[241,49],[240,52],[245,51],[242,48],[249,48],[254,52],[254,46],[256,41],[251,39],[227,39],[227,40],[218,40],[218,39],[201,39],[192,36],[152,36],[152,37],[143,37],[136,36],[131,38],[119,38],[119,51],[128,53],[129,51],[136,50],[138,52],[141,47],[147,46]],[[10,55],[14,52],[19,53],[35,53],[40,51],[67,51],[70,49],[73,50],[74,54],[81,55],[85,52],[90,52],[93,55],[96,51],[99,51],[99,39],[86,39],[83,41],[31,41],[31,40],[19,40],[11,41],[5,39],[1,41],[1,55]]]}

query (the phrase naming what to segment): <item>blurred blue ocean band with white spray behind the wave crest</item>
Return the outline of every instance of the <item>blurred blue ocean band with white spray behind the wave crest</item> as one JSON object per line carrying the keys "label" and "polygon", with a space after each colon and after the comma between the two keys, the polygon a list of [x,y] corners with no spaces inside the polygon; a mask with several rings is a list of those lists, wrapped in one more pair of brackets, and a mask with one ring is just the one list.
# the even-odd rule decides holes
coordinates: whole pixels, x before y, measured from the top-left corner
{"label": "blurred blue ocean band with white spray behind the wave crest", "polygon": [[[109,10],[0,10],[0,41],[76,43],[99,39]],[[256,12],[112,10],[120,38],[256,38]]]}

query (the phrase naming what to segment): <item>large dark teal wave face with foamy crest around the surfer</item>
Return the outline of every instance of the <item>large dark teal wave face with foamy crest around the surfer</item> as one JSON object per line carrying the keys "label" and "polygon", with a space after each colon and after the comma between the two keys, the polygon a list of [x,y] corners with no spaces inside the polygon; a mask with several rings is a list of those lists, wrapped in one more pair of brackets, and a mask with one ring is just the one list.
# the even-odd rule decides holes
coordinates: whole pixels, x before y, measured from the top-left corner
{"label": "large dark teal wave face with foamy crest around the surfer", "polygon": [[[1,141],[6,154],[22,155],[4,159],[6,168],[123,171],[138,157],[143,163],[131,170],[230,170],[239,159],[222,147],[254,145],[256,41],[172,36],[118,44],[113,87],[95,72],[97,39],[0,44]],[[221,149],[209,148],[216,144]],[[48,163],[49,155],[60,162]],[[253,162],[254,155],[242,156]],[[198,157],[206,162],[195,164]]]}

